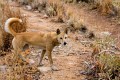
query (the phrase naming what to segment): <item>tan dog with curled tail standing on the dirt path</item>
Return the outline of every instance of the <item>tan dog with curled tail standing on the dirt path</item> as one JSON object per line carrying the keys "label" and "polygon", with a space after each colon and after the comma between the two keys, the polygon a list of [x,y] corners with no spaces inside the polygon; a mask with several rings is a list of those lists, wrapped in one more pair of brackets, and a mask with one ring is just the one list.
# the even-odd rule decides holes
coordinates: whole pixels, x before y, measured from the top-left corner
{"label": "tan dog with curled tail standing on the dirt path", "polygon": [[[18,18],[9,18],[5,22],[5,31],[14,36],[12,40],[12,45],[13,45],[15,53],[20,55],[20,53],[23,50],[23,47],[26,44],[39,46],[40,48],[43,49],[41,57],[40,57],[40,65],[44,57],[44,54],[47,53],[48,59],[50,61],[50,66],[53,70],[55,70],[55,67],[53,66],[51,52],[55,46],[59,44],[63,44],[63,45],[67,44],[66,42],[67,29],[63,30],[62,32],[60,31],[60,29],[57,29],[56,32],[48,32],[48,33],[40,33],[40,32],[16,33],[11,28],[11,24],[14,22],[22,22],[22,20]],[[26,59],[23,56],[21,56],[21,58],[22,60],[26,61]]]}

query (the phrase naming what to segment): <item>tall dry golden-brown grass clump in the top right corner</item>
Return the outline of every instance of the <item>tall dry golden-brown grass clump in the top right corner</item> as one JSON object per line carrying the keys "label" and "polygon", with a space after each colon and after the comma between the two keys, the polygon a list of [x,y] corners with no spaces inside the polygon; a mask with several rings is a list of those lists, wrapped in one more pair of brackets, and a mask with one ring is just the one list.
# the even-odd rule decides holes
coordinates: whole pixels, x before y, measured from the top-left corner
{"label": "tall dry golden-brown grass clump in the top right corner", "polygon": [[113,0],[93,0],[93,9],[98,9],[102,15],[116,16],[118,11],[113,5]]}

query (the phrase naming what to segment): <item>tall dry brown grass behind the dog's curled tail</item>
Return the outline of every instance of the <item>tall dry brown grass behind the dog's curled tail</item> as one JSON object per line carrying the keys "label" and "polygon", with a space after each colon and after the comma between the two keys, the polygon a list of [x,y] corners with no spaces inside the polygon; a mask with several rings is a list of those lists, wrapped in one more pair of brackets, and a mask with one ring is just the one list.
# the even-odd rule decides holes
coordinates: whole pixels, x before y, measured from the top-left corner
{"label": "tall dry brown grass behind the dog's curled tail", "polygon": [[[26,28],[27,28],[27,20],[24,16],[22,16],[21,12],[19,9],[15,9],[15,8],[12,8],[9,6],[9,4],[7,2],[4,3],[4,5],[1,7],[1,27],[2,29],[4,29],[4,24],[5,24],[5,21],[8,19],[8,18],[11,18],[11,17],[17,17],[17,18],[20,18],[23,20],[23,23],[20,24],[20,23],[13,23],[12,24],[12,28],[14,31],[16,32],[25,32],[26,31]],[[3,41],[3,50],[4,51],[8,51],[10,48],[12,48],[11,46],[11,42],[12,42],[12,39],[13,39],[13,36],[4,32],[2,32],[4,35],[3,38],[1,38]]]}

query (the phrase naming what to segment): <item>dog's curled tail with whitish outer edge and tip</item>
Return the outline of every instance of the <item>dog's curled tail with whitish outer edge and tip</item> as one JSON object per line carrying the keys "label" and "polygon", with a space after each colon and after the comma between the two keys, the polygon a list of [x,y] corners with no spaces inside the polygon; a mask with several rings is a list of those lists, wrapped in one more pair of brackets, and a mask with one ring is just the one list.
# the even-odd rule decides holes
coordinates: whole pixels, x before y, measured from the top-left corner
{"label": "dog's curled tail with whitish outer edge and tip", "polygon": [[16,32],[11,27],[11,24],[14,23],[14,22],[20,22],[21,23],[22,20],[19,19],[19,18],[9,18],[8,20],[6,20],[5,27],[4,27],[5,31],[12,34],[13,36],[16,35]]}

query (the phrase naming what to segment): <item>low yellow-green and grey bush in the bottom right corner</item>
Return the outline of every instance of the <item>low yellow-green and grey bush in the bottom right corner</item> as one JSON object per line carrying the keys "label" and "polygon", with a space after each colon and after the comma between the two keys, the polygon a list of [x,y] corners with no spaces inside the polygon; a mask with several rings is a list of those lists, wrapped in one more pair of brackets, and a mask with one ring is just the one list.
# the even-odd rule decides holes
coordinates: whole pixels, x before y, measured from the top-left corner
{"label": "low yellow-green and grey bush in the bottom right corner", "polygon": [[120,56],[103,53],[94,62],[85,62],[85,73],[90,80],[119,80]]}

